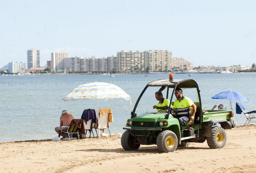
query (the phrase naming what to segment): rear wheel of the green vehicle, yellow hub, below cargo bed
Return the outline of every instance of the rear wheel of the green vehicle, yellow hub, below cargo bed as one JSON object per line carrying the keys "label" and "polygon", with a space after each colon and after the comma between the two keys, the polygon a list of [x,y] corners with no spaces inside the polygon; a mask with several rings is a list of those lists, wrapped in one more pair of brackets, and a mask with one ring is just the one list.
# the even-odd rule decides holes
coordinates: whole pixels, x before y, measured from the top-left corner
{"label": "rear wheel of the green vehicle, yellow hub, below cargo bed", "polygon": [[220,149],[226,145],[227,134],[222,127],[211,129],[211,137],[207,137],[207,144],[212,149]]}

